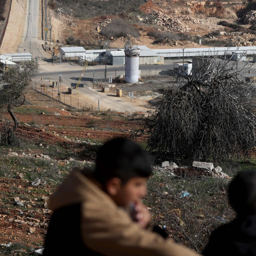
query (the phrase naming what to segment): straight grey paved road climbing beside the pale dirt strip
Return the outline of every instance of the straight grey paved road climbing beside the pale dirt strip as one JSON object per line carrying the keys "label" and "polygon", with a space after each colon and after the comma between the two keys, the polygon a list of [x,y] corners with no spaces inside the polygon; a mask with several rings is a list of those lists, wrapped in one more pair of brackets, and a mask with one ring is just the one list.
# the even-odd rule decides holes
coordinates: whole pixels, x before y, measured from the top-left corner
{"label": "straight grey paved road climbing beside the pale dirt strip", "polygon": [[18,52],[30,52],[33,58],[47,57],[42,46],[38,43],[39,1],[28,0],[23,40],[18,46]]}

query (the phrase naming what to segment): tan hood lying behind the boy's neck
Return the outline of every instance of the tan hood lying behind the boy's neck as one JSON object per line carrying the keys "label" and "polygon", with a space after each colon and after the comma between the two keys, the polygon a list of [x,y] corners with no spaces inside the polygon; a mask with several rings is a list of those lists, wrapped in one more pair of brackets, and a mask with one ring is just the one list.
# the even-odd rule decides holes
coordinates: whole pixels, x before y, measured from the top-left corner
{"label": "tan hood lying behind the boy's neck", "polygon": [[[100,184],[94,181],[90,169],[74,169],[62,182],[58,190],[50,197],[49,207],[51,210],[77,204],[92,196],[98,200],[112,199],[100,188]],[[114,201],[112,201],[114,204]]]}

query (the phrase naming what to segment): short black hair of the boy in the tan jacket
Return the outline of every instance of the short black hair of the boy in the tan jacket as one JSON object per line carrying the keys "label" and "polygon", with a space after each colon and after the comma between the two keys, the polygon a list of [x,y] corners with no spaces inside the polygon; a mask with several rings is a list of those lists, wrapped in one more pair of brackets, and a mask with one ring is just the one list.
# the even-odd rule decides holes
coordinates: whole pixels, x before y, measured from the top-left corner
{"label": "short black hair of the boy in the tan jacket", "polygon": [[106,142],[98,152],[94,177],[101,184],[114,177],[124,184],[130,178],[146,178],[151,174],[148,154],[132,140],[115,138]]}

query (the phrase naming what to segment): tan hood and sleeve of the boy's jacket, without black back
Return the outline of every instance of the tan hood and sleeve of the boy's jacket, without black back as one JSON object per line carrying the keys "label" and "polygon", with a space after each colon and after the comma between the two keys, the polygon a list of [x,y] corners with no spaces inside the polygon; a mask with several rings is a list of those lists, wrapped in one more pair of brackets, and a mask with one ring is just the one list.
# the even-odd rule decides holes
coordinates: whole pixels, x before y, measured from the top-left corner
{"label": "tan hood and sleeve of the boy's jacket, without black back", "polygon": [[[73,171],[50,198],[50,208],[81,203],[81,236],[86,247],[107,256],[196,256],[157,233],[144,230],[80,171]],[[81,254],[82,255],[82,254]]]}

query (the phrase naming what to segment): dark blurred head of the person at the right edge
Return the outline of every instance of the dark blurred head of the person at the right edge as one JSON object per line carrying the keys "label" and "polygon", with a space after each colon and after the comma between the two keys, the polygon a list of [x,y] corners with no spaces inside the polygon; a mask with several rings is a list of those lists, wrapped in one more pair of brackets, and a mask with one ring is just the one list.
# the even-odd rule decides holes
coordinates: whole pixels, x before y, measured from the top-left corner
{"label": "dark blurred head of the person at the right edge", "polygon": [[240,172],[228,187],[228,198],[238,216],[256,214],[256,171]]}

